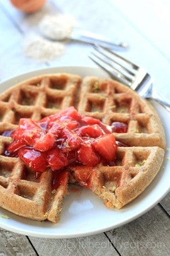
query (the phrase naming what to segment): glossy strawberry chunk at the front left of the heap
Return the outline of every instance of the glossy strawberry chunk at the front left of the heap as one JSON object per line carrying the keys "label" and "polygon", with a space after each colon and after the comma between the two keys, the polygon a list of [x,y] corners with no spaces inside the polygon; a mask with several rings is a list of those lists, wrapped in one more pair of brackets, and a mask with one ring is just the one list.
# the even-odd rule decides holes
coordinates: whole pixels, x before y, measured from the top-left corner
{"label": "glossy strawberry chunk at the front left of the heap", "polygon": [[46,153],[31,148],[20,148],[18,156],[36,172],[44,172],[47,166]]}

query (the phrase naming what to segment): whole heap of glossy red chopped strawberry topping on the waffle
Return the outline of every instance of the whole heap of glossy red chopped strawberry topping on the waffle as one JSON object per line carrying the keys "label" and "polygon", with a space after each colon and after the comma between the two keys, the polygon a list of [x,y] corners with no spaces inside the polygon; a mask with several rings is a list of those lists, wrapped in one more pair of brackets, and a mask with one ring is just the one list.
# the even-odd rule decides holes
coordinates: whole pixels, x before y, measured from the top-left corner
{"label": "whole heap of glossy red chopped strawberry topping on the waffle", "polygon": [[113,163],[117,145],[112,132],[111,126],[69,107],[39,122],[20,119],[4,154],[20,157],[35,172]]}

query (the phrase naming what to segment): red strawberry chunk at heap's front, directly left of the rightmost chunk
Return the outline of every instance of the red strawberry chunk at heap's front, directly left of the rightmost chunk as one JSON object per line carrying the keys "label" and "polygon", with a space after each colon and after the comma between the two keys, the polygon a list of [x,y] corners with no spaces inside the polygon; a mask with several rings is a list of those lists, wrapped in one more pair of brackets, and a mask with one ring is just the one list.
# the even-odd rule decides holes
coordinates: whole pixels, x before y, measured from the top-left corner
{"label": "red strawberry chunk at heap's front, directly left of the rightmost chunk", "polygon": [[95,166],[99,163],[100,158],[90,143],[84,143],[77,151],[77,160],[82,163],[82,165]]}

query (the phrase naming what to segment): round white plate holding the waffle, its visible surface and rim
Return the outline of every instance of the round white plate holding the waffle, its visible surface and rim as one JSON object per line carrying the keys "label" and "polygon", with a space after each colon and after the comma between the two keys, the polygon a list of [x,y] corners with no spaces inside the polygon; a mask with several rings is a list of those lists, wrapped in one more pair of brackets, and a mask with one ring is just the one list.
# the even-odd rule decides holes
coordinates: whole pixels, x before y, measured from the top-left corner
{"label": "round white plate holding the waffle, its visible surface and rim", "polygon": [[[81,76],[96,75],[106,77],[106,74],[100,69],[93,67],[54,67],[9,79],[1,83],[0,93],[24,79],[39,74],[56,72],[73,73]],[[170,113],[156,103],[154,103],[154,107],[156,107],[161,117],[165,131],[169,131]],[[170,138],[167,133],[166,139],[167,148],[170,148]],[[87,236],[122,226],[149,211],[149,209],[161,201],[169,191],[170,161],[167,160],[167,156],[169,155],[170,153],[167,151],[162,168],[156,178],[150,183],[149,187],[137,197],[137,199],[121,210],[116,211],[106,208],[103,202],[98,199],[96,195],[93,195],[90,190],[81,188],[77,192],[71,191],[65,198],[61,219],[57,224],[52,224],[47,221],[31,221],[0,208],[0,215],[3,214],[9,217],[9,219],[0,218],[0,226],[1,228],[22,235],[45,238],[74,238]]]}

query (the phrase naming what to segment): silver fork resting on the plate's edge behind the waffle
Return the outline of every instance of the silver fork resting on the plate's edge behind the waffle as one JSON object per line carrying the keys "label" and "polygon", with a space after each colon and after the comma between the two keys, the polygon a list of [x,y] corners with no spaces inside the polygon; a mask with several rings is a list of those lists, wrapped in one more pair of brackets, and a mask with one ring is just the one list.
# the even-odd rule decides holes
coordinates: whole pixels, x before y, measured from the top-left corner
{"label": "silver fork resting on the plate's edge behind the waffle", "polygon": [[146,99],[155,100],[170,112],[170,103],[162,99],[153,86],[153,79],[142,67],[116,54],[110,49],[95,45],[89,58],[116,79],[137,91]]}

